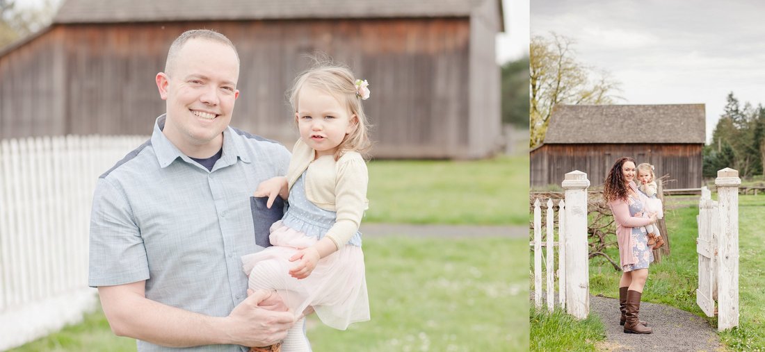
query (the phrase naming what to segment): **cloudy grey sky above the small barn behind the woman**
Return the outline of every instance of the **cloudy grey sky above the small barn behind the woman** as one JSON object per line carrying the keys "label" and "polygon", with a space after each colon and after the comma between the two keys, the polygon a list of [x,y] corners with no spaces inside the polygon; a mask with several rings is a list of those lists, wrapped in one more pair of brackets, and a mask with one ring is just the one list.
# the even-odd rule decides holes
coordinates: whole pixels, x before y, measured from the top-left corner
{"label": "cloudy grey sky above the small barn behind the woman", "polygon": [[624,104],[705,104],[709,138],[728,92],[765,105],[763,14],[759,0],[534,0],[531,35],[574,39]]}

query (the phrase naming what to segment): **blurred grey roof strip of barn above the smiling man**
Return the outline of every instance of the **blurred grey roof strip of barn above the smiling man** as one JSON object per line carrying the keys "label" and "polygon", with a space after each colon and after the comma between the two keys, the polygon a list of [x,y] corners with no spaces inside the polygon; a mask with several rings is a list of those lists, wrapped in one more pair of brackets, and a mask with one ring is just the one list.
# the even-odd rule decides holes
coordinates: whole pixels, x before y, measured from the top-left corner
{"label": "blurred grey roof strip of barn above the smiling man", "polygon": [[54,23],[463,17],[484,1],[494,0],[64,0]]}

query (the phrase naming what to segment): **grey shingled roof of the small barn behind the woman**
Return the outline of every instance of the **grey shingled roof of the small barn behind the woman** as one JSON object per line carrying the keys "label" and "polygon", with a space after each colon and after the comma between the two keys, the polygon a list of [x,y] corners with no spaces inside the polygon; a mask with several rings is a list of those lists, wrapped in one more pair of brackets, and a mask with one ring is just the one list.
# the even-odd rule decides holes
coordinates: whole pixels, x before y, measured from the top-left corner
{"label": "grey shingled roof of the small barn behind the woman", "polygon": [[704,144],[705,118],[704,104],[558,105],[544,144]]}

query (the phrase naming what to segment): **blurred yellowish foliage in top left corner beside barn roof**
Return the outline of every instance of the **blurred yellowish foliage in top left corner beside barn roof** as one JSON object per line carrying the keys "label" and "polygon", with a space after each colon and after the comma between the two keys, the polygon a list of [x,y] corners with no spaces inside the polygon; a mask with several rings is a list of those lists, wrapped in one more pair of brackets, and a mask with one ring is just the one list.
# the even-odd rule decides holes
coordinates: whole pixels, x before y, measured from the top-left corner
{"label": "blurred yellowish foliage in top left corner beside barn roof", "polygon": [[20,7],[18,0],[0,0],[0,49],[50,24],[56,6],[43,0],[35,8]]}

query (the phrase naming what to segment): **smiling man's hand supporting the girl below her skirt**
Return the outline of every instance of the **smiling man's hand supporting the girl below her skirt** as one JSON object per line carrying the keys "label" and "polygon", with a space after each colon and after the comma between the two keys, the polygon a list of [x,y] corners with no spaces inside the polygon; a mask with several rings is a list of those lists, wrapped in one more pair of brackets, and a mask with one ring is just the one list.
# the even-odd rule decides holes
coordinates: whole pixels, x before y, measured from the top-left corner
{"label": "smiling man's hand supporting the girl below her skirt", "polygon": [[[278,306],[275,302],[278,296],[272,296],[276,296],[275,292],[259,289],[234,307],[227,318],[229,339],[233,344],[261,347],[284,340],[287,330],[295,322],[295,316],[292,312],[267,309]],[[281,302],[281,299],[278,301]]]}

